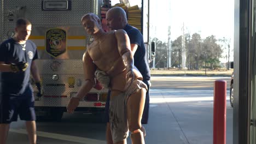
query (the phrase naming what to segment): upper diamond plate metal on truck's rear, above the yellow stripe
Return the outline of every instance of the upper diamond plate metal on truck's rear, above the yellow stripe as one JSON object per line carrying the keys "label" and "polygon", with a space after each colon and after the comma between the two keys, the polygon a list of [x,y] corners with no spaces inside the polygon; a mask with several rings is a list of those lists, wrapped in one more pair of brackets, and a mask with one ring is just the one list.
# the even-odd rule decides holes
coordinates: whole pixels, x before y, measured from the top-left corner
{"label": "upper diamond plate metal on truck's rear, above the yellow stripe", "polygon": [[[4,8],[1,12],[3,15],[1,16],[3,17],[2,41],[8,39],[8,31],[14,31],[15,21],[18,19],[18,7],[26,7],[25,17],[31,21],[32,27],[80,26],[80,19],[84,14],[96,13],[99,15],[100,2],[99,0],[73,0],[71,1],[71,10],[43,11],[42,0],[2,0],[1,5]],[[14,16],[10,16],[10,13],[14,13]],[[9,21],[9,19],[13,20]]]}

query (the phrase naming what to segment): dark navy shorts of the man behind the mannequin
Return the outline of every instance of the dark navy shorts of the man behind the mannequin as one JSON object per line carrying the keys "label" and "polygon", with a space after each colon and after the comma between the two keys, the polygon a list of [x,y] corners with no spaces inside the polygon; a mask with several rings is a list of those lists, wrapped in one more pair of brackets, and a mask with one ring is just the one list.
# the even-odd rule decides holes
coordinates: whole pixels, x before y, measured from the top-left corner
{"label": "dark navy shorts of the man behind the mannequin", "polygon": [[[147,124],[148,123],[148,115],[149,115],[149,85],[150,81],[143,81],[147,87],[148,91],[146,93],[146,100],[145,100],[145,105],[144,105],[144,110],[143,110],[143,115],[141,119],[142,124]],[[108,91],[108,97],[105,105],[105,122],[109,123],[109,101],[110,101],[110,93],[111,91]]]}

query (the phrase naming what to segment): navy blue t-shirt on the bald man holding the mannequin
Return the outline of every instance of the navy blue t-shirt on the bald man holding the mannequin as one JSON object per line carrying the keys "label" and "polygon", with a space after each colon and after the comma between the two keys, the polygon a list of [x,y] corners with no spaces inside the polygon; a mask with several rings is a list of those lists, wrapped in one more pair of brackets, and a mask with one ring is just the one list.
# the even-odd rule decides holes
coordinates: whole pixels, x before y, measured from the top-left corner
{"label": "navy blue t-shirt on the bald man holding the mannequin", "polygon": [[138,45],[138,48],[133,56],[135,67],[141,72],[143,80],[150,80],[150,69],[148,66],[148,59],[146,56],[146,48],[141,32],[135,27],[126,25],[124,31],[128,34],[131,44]]}

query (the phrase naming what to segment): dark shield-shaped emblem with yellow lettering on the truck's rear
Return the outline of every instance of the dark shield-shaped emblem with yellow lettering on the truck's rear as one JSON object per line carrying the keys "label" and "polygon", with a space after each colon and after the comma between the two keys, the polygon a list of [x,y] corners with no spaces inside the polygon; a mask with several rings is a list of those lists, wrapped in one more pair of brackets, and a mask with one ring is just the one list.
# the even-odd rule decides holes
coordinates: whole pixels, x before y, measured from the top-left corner
{"label": "dark shield-shaped emblem with yellow lettering on the truck's rear", "polygon": [[57,57],[65,53],[67,35],[66,31],[60,28],[53,28],[46,31],[46,52],[53,57]]}

